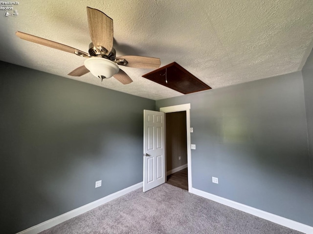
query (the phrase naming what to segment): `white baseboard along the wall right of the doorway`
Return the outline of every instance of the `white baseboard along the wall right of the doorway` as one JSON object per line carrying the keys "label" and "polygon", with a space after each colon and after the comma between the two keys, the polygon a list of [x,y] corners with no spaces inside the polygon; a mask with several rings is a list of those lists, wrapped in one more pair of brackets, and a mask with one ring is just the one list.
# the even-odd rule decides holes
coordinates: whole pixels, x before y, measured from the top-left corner
{"label": "white baseboard along the wall right of the doorway", "polygon": [[279,225],[291,228],[293,230],[297,230],[299,232],[302,233],[306,233],[306,234],[313,234],[313,227],[302,224],[302,223],[298,223],[296,221],[293,221],[291,219],[288,218],[284,218],[278,215],[273,215],[271,213],[262,211],[262,210],[258,210],[256,208],[250,207],[250,206],[246,206],[244,204],[232,201],[232,200],[228,200],[224,197],[221,196],[217,196],[217,195],[213,195],[213,194],[209,194],[207,192],[192,188],[192,193],[195,195],[199,195],[202,196],[204,198],[210,199],[212,201],[216,201],[218,203],[221,203],[223,205],[235,208],[237,210],[246,212],[248,214],[251,215],[255,215],[258,216],[260,218],[264,218],[266,220],[269,220],[273,223],[277,223]]}

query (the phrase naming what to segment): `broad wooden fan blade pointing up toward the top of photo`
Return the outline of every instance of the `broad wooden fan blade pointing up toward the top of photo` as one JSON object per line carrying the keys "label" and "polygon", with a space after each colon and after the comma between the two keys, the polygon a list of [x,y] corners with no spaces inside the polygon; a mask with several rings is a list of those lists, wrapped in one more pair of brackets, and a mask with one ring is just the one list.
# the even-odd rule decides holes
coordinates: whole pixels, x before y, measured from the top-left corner
{"label": "broad wooden fan blade pointing up toward the top of photo", "polygon": [[113,47],[113,20],[94,8],[87,7],[89,34],[93,45],[102,46],[109,54]]}

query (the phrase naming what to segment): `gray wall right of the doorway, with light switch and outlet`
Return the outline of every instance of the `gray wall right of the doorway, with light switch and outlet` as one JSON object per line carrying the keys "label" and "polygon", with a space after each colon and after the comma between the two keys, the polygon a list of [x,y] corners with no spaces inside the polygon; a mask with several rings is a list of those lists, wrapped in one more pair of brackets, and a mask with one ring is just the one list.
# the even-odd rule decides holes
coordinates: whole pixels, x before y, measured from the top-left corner
{"label": "gray wall right of the doorway, with light switch and outlet", "polygon": [[194,188],[313,226],[301,72],[158,100],[156,110],[184,103]]}

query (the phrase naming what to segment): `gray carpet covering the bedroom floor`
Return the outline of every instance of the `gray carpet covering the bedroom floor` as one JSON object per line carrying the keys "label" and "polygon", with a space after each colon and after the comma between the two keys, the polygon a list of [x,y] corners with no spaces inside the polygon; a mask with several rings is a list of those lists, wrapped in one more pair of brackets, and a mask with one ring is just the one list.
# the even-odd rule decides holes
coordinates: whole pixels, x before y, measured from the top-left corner
{"label": "gray carpet covering the bedroom floor", "polygon": [[41,234],[300,234],[169,184],[135,190]]}

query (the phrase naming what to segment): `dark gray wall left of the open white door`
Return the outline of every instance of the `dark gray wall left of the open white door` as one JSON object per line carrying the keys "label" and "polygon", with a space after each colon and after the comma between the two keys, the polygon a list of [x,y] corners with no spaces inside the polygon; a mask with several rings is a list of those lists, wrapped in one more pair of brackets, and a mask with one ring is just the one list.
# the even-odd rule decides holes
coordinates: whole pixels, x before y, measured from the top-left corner
{"label": "dark gray wall left of the open white door", "polygon": [[0,233],[142,181],[143,109],[154,100],[5,62],[0,70]]}

